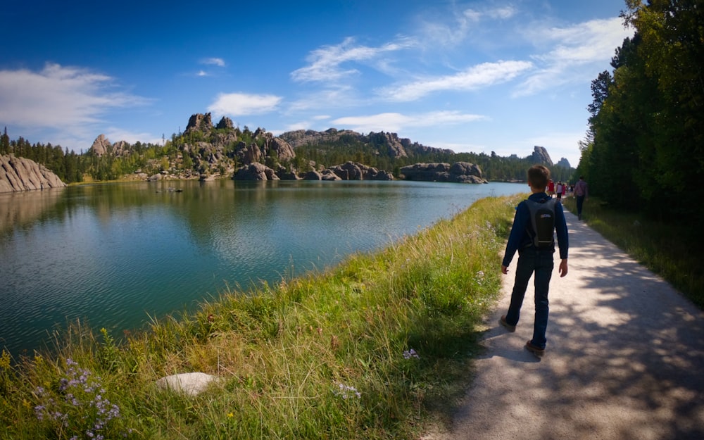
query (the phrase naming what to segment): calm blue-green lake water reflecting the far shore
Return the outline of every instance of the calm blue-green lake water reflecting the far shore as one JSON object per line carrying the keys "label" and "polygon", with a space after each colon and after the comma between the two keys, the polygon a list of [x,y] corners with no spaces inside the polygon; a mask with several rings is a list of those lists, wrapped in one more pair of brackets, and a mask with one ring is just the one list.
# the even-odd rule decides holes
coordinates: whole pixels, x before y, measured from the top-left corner
{"label": "calm blue-green lake water reflecting the far shore", "polygon": [[0,194],[0,347],[32,353],[76,319],[120,337],[228,286],[326,268],[526,189],[223,180]]}

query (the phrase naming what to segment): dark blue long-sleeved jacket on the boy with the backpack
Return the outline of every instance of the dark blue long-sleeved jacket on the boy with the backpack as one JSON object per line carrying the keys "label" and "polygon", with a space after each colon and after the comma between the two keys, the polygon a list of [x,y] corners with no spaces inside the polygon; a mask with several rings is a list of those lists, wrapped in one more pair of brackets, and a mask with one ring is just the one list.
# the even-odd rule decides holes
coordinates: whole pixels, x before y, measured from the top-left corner
{"label": "dark blue long-sleeved jacket on the boy with the backpack", "polygon": [[[543,199],[548,199],[550,196],[544,192],[539,192],[531,194],[528,199],[532,201],[541,201]],[[525,201],[518,203],[516,207],[516,215],[513,218],[513,227],[511,228],[511,234],[508,236],[508,243],[506,244],[506,253],[503,256],[503,263],[508,267],[516,251],[523,249],[525,247],[533,247],[533,240],[526,232],[526,229],[532,227],[530,226],[530,211]],[[555,203],[555,231],[558,235],[558,247],[560,248],[560,260],[567,258],[567,249],[570,248],[569,241],[567,239],[567,220],[565,220],[565,211],[562,210],[562,203]],[[553,248],[554,252],[555,249]]]}

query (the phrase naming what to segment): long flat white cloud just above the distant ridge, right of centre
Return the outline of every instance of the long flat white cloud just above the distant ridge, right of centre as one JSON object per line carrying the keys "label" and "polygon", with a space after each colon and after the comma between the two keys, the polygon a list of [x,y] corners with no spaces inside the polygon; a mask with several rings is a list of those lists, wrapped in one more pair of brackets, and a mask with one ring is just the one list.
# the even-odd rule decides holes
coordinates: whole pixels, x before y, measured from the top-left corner
{"label": "long flat white cloud just above the distant ridge, right of centre", "polygon": [[484,120],[482,115],[458,111],[436,111],[417,115],[379,113],[377,115],[346,116],[332,120],[333,124],[357,132],[400,132],[405,127],[438,127]]}

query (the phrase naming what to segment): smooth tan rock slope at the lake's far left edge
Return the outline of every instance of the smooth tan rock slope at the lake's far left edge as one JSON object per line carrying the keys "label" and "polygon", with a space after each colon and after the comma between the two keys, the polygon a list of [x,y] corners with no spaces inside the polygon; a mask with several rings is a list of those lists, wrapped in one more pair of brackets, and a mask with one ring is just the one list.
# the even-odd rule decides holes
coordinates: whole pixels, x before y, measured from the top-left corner
{"label": "smooth tan rock slope at the lake's far left edge", "polygon": [[0,156],[0,192],[30,191],[32,189],[63,188],[54,172],[30,159],[13,154]]}

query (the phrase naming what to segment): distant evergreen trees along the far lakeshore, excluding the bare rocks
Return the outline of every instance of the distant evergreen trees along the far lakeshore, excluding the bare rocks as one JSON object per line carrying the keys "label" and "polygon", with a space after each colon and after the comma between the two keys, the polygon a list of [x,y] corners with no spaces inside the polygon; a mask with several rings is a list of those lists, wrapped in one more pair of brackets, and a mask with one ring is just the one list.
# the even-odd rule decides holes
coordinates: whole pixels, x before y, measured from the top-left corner
{"label": "distant evergreen trees along the far lakeshore, excluding the bare rocks", "polygon": [[[248,127],[244,130],[233,129],[237,135],[236,142],[250,144],[257,142]],[[63,182],[84,182],[86,180],[118,180],[124,175],[137,171],[148,175],[156,172],[170,170],[178,172],[191,170],[195,173],[206,172],[203,168],[205,158],[199,157],[199,151],[188,148],[197,142],[215,142],[215,138],[222,130],[213,130],[210,136],[203,132],[189,132],[188,134],[172,134],[171,139],[165,139],[163,144],[126,144],[121,154],[115,154],[108,148],[108,152],[98,156],[92,149],[87,152],[75,153],[61,146],[51,144],[31,144],[22,137],[11,140],[7,129],[0,135],[0,154],[12,153],[15,156],[32,159],[41,163],[58,175]],[[237,165],[233,158],[234,144],[222,148],[225,158],[230,163]],[[308,171],[311,163],[334,166],[347,161],[354,161],[369,165],[379,170],[393,172],[398,177],[400,170],[406,165],[414,163],[455,163],[470,162],[479,165],[486,180],[525,181],[526,170],[532,165],[532,157],[508,158],[497,156],[496,153],[448,153],[440,149],[427,151],[409,151],[408,157],[394,157],[389,152],[389,146],[380,142],[361,142],[351,136],[343,136],[335,142],[326,142],[315,145],[298,146],[295,149],[296,157],[290,164],[299,172]],[[275,168],[277,158],[267,158],[268,165]],[[203,169],[201,169],[203,168]],[[574,168],[555,166],[552,168],[553,180],[568,182],[574,181]]]}

